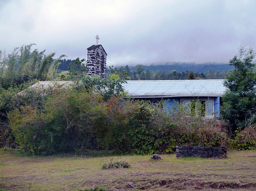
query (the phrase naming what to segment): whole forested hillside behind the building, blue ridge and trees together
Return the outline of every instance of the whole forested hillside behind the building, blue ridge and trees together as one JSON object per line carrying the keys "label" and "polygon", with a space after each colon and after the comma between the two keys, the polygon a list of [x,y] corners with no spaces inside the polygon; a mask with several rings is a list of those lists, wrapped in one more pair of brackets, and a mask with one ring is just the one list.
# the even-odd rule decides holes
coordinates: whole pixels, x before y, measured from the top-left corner
{"label": "whole forested hillside behind the building, blue ridge and trees together", "polygon": [[[59,71],[68,71],[69,64],[72,60],[61,59]],[[233,66],[229,64],[217,63],[179,63],[169,62],[164,64],[151,65],[136,65],[136,66],[118,66],[107,67],[107,75],[118,73],[121,76],[126,76],[129,80],[186,80],[189,72],[194,73],[194,78],[197,79],[224,79]],[[113,72],[113,69],[115,72]],[[194,79],[192,78],[192,79]]]}

